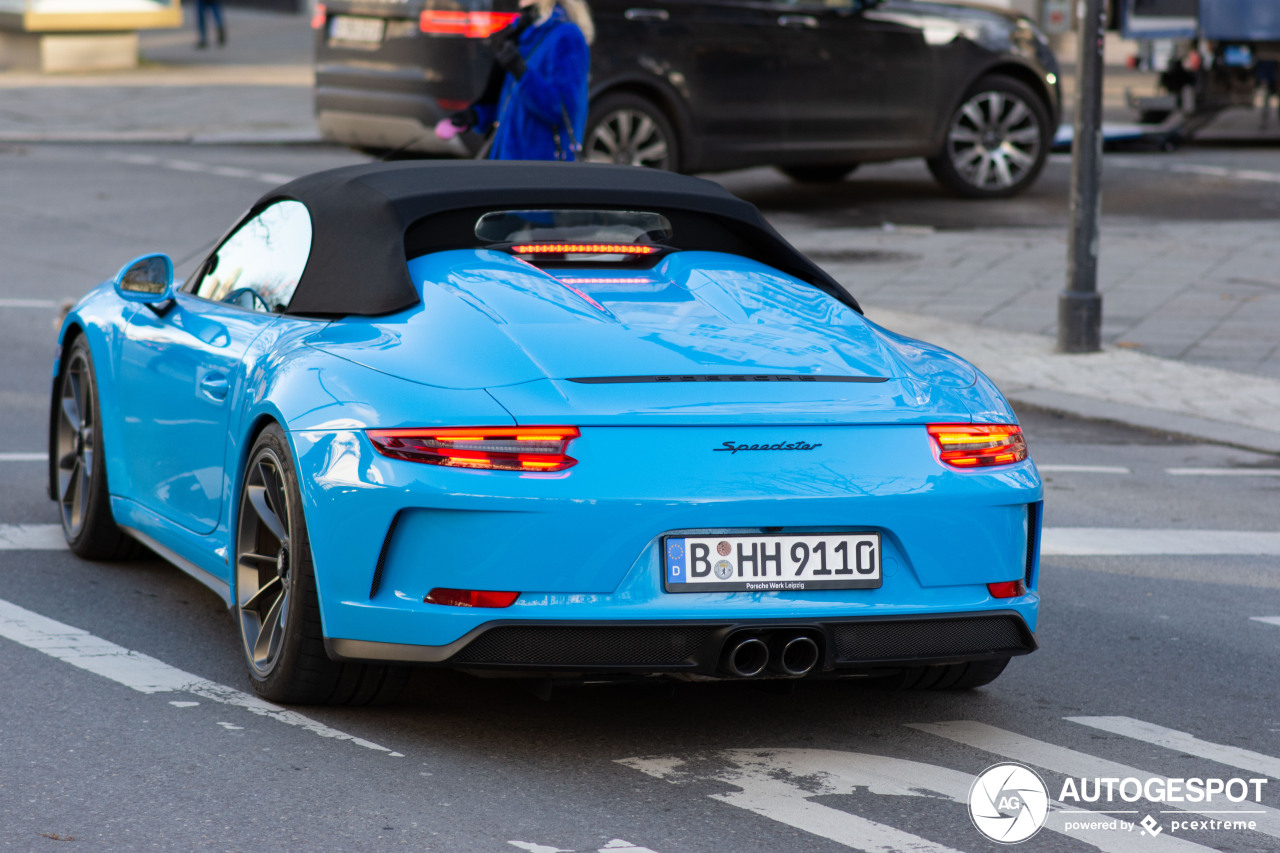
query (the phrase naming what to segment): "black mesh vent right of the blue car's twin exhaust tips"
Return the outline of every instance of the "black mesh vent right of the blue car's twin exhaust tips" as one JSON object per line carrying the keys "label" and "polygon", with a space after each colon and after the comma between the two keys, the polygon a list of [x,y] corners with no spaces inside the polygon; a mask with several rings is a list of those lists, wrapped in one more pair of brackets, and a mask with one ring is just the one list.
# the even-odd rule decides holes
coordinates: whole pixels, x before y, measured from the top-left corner
{"label": "black mesh vent right of the blue car's twin exhaust tips", "polygon": [[852,622],[832,626],[838,661],[904,661],[1033,648],[1015,616]]}

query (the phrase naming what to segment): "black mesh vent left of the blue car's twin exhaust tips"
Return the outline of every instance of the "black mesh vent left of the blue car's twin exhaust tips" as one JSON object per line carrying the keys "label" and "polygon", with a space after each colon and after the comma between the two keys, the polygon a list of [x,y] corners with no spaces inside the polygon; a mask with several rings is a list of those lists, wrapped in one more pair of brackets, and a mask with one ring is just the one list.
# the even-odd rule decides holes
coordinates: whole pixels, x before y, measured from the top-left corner
{"label": "black mesh vent left of the blue car's twin exhaust tips", "polygon": [[494,628],[458,652],[453,663],[516,666],[682,666],[716,631],[712,626]]}

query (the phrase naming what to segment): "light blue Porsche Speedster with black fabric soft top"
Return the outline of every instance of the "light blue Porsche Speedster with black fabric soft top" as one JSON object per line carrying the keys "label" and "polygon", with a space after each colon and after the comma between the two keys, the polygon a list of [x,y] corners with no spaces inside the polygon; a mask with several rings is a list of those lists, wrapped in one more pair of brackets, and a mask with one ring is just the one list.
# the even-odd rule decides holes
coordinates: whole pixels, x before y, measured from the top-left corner
{"label": "light blue Porsche Speedster with black fabric soft top", "polygon": [[1036,648],[1012,411],[718,186],[390,163],[261,199],[67,316],[50,496],[234,611],[279,702],[406,665],[986,684]]}

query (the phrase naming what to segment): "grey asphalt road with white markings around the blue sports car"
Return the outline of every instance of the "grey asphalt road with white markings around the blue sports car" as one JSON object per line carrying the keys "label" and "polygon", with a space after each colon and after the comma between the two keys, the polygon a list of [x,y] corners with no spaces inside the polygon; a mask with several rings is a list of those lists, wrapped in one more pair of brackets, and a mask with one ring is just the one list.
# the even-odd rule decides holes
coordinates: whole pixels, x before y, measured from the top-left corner
{"label": "grey asphalt road with white markings around the blue sports car", "polygon": [[[146,251],[189,269],[274,182],[357,159],[325,149],[0,152],[0,533],[56,523],[42,465],[24,456],[44,448],[56,302]],[[1157,195],[1169,177],[1132,172]],[[759,182],[762,202],[801,192],[763,172],[731,178]],[[900,205],[900,222],[943,215],[892,193],[878,204]],[[979,219],[1007,215],[982,209]],[[1199,806],[1258,812],[1236,816],[1254,830],[1181,831],[1172,821],[1190,815],[1119,803],[1133,813],[1108,818],[1152,816],[1161,834],[1061,822],[1019,849],[1276,849],[1276,556],[1197,556],[1198,539],[1158,532],[1274,532],[1280,462],[1020,415],[1047,480],[1044,524],[1059,537],[1042,562],[1042,648],[961,694],[682,683],[545,698],[531,685],[421,671],[390,707],[287,715],[244,698],[229,615],[178,570],[0,547],[0,615],[51,620],[0,638],[0,847],[968,853],[1004,849],[957,799],[1009,758],[1037,767],[1053,798],[1075,776],[1268,780],[1261,808]],[[1130,537],[1129,555],[1071,556],[1091,540],[1078,528],[1146,533]],[[166,679],[186,686],[137,689]]]}

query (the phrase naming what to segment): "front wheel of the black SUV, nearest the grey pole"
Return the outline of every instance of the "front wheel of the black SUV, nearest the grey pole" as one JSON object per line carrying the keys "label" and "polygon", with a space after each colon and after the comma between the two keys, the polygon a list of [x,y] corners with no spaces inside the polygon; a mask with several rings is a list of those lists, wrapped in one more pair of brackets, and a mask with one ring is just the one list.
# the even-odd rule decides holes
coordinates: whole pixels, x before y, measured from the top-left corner
{"label": "front wheel of the black SUV, nearest the grey pole", "polygon": [[942,151],[927,160],[943,187],[964,199],[1007,199],[1036,182],[1053,142],[1044,100],[1011,77],[983,77],[951,118]]}

